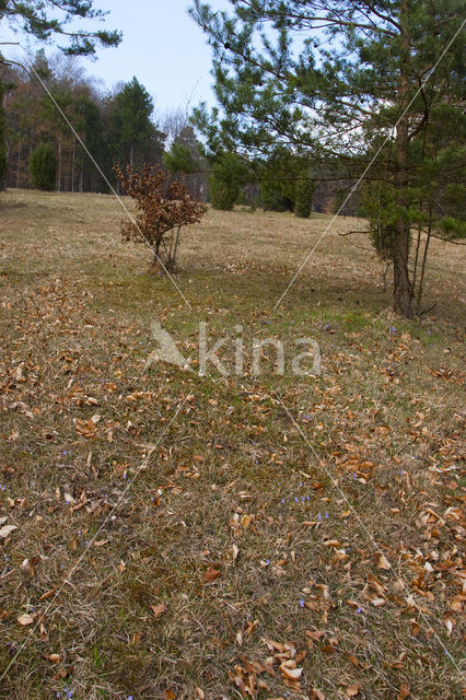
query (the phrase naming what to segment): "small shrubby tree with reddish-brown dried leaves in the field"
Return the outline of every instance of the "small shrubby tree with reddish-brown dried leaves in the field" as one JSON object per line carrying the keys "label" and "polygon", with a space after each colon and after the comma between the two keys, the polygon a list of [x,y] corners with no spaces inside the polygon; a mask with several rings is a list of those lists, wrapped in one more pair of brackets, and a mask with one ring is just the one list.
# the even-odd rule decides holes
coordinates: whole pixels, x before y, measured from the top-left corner
{"label": "small shrubby tree with reddish-brown dried leaves in the field", "polygon": [[135,221],[121,221],[124,240],[149,245],[154,254],[151,271],[161,267],[173,270],[182,226],[199,223],[207,205],[194,199],[185,183],[171,182],[163,170],[144,165],[135,172],[128,165],[125,170],[116,166],[115,172],[138,212]]}

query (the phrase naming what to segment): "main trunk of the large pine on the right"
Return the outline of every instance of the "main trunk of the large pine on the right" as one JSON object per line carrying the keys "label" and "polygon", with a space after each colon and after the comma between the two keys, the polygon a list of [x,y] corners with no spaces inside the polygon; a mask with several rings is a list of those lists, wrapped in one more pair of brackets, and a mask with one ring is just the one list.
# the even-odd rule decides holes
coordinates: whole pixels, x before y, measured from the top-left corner
{"label": "main trunk of the large pine on the right", "polygon": [[[401,63],[399,75],[399,104],[401,109],[408,106],[408,61],[410,55],[410,42],[407,33],[407,2],[401,3]],[[408,115],[400,117],[395,136],[396,173],[395,189],[396,202],[401,211],[406,210],[406,187],[408,185]],[[412,290],[409,281],[409,221],[403,214],[396,222],[396,240],[393,260],[393,295],[395,311],[407,318],[412,317]]]}

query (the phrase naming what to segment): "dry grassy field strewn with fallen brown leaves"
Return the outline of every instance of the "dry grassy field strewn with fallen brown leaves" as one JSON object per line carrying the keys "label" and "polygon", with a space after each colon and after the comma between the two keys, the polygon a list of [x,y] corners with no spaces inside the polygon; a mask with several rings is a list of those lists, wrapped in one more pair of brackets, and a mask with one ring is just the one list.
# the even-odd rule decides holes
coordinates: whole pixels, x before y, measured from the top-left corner
{"label": "dry grassy field strewn with fallen brown leaves", "polygon": [[[273,311],[330,217],[209,211],[179,293],[121,215],[1,195],[0,698],[463,697],[464,248],[405,322],[339,218]],[[323,372],[144,370],[154,320]]]}

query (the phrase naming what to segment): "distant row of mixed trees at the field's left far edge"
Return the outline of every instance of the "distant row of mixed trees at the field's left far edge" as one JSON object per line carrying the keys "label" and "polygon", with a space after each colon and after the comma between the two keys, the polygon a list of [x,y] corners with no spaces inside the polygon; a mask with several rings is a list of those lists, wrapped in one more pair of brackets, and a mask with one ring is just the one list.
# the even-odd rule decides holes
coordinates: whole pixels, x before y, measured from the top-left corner
{"label": "distant row of mixed trees at the field's left far edge", "polygon": [[[74,59],[48,60],[44,50],[31,70],[9,66],[1,72],[7,187],[37,183],[33,156],[45,148],[53,151],[45,188],[58,191],[108,192],[118,188],[115,165],[160,165],[167,147],[187,149],[196,161],[199,144],[187,116],[167,113],[156,124],[153,98],[136,77],[105,93]],[[205,189],[199,178],[190,179],[198,192]]]}

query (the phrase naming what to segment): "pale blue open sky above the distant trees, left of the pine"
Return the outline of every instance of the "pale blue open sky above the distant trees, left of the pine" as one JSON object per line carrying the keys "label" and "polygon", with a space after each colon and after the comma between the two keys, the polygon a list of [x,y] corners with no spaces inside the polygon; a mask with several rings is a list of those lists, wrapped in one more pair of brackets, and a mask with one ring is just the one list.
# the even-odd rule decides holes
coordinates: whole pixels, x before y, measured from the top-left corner
{"label": "pale blue open sky above the distant trees, left of the pine", "polygon": [[[96,61],[81,58],[89,74],[102,79],[108,89],[136,75],[154,98],[155,114],[201,101],[214,104],[211,51],[187,13],[190,0],[94,0],[93,4],[109,10],[105,28],[121,30],[123,42],[116,49],[98,50]],[[229,0],[209,4],[214,10],[231,7]],[[47,54],[54,51],[53,45],[45,48]]]}

